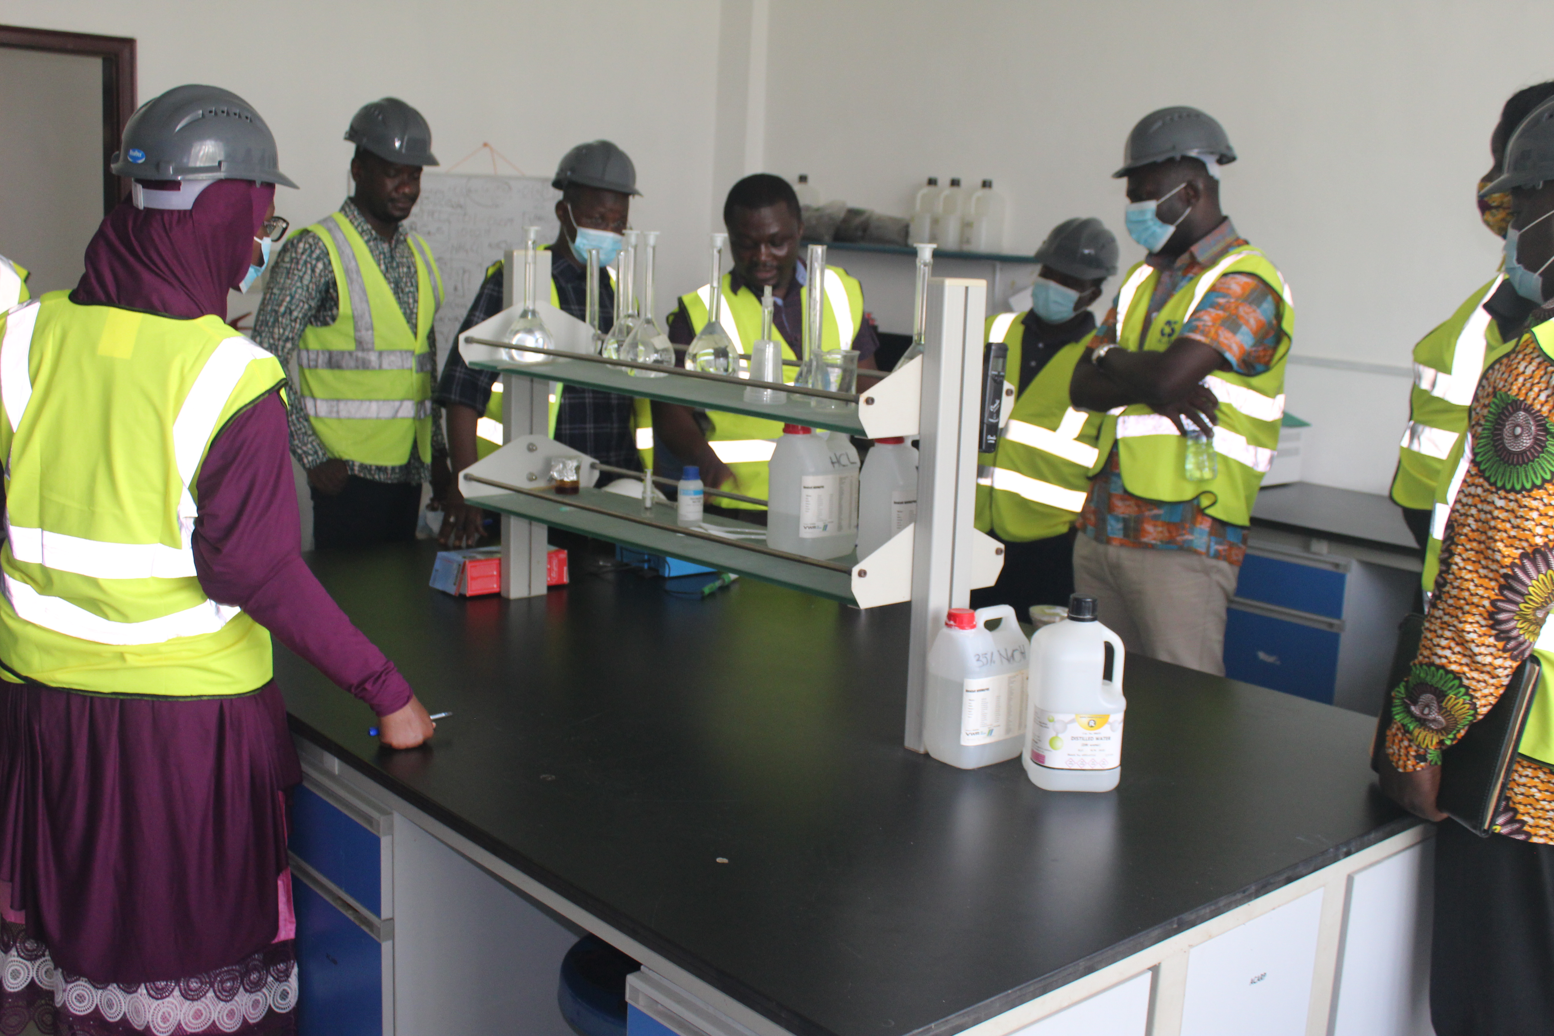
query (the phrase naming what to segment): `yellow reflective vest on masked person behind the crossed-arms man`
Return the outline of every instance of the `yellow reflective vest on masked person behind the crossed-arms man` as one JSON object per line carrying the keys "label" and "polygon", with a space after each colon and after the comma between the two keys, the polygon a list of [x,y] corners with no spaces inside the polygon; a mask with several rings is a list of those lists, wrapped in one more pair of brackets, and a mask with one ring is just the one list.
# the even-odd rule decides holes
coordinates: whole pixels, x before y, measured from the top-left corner
{"label": "yellow reflective vest on masked person behind the crossed-arms man", "polygon": [[[987,322],[987,340],[1009,346],[1009,377],[1019,384],[1027,314]],[[977,455],[976,527],[1007,544],[1061,536],[1085,506],[1103,415],[1069,404],[1074,365],[1094,331],[1046,362],[1001,415],[998,449]]]}

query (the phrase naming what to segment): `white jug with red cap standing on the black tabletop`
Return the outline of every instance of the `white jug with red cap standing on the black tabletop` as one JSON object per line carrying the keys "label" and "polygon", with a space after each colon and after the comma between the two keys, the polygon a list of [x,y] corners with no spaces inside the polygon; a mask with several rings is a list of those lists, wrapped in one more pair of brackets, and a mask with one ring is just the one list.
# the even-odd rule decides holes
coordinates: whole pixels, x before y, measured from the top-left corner
{"label": "white jug with red cap standing on the black tabletop", "polygon": [[[990,631],[993,620],[996,629]],[[928,753],[963,770],[1019,755],[1029,711],[1026,674],[1026,637],[1015,609],[949,609],[928,652]]]}

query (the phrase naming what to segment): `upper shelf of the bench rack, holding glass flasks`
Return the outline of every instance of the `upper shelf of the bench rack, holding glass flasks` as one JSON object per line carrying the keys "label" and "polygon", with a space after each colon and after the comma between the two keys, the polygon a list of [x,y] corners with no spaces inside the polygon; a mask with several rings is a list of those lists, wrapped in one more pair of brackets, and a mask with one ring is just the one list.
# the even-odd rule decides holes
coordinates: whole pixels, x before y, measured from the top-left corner
{"label": "upper shelf of the bench rack, holding glass flasks", "polygon": [[[469,339],[477,345],[500,345],[483,339]],[[723,413],[743,413],[752,418],[783,421],[786,424],[803,424],[811,429],[827,429],[845,432],[847,435],[864,436],[862,421],[858,418],[858,404],[841,404],[841,410],[824,410],[810,402],[810,398],[789,395],[783,404],[744,402],[746,384],[730,385],[698,377],[667,374],[664,377],[634,377],[625,370],[617,370],[605,363],[587,360],[569,360],[555,357],[544,363],[513,363],[510,360],[469,360],[469,367],[499,374],[519,374],[521,377],[539,377],[556,381],[564,385],[583,385],[601,388],[622,396],[645,396],[664,402],[678,402],[702,410],[721,410]]]}

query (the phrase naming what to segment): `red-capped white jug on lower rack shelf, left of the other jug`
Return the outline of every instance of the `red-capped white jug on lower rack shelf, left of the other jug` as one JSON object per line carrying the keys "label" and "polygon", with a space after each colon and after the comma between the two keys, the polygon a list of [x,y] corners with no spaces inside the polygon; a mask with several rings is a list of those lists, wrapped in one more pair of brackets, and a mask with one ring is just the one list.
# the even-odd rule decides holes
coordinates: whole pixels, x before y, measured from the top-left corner
{"label": "red-capped white jug on lower rack shelf, left of the other jug", "polygon": [[805,558],[842,558],[858,542],[858,452],[785,424],[768,464],[766,545]]}

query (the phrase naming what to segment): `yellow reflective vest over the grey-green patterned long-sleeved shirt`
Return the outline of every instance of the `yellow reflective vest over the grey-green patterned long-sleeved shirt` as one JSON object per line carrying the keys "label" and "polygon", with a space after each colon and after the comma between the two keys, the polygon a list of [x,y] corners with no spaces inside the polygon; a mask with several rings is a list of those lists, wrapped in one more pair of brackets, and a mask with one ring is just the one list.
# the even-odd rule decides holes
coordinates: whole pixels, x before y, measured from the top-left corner
{"label": "yellow reflective vest over the grey-green patterned long-sleeved shirt", "polygon": [[[388,278],[342,213],[306,231],[319,235],[339,290],[340,312],[308,328],[297,349],[303,412],[333,457],[362,464],[402,464],[413,446],[432,460],[432,318],[443,276],[432,250],[409,235],[415,256],[416,322],[412,329]],[[432,304],[426,304],[432,300]]]}

